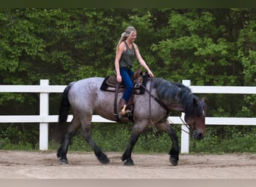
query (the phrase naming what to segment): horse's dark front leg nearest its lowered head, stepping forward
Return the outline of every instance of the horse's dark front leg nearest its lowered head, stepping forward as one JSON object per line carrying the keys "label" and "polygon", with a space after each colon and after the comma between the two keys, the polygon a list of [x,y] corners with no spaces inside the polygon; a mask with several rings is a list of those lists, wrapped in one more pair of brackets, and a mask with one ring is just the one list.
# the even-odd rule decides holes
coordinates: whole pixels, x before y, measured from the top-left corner
{"label": "horse's dark front leg nearest its lowered head, stepping forward", "polygon": [[179,153],[180,153],[180,147],[179,147],[179,142],[178,142],[178,138],[177,138],[177,133],[174,131],[174,129],[171,128],[168,121],[166,121],[165,123],[162,123],[160,125],[160,128],[163,131],[167,132],[169,137],[171,138],[172,147],[171,147],[171,150],[169,152],[169,155],[170,155],[169,160],[170,160],[172,165],[176,166],[176,165],[178,165]]}

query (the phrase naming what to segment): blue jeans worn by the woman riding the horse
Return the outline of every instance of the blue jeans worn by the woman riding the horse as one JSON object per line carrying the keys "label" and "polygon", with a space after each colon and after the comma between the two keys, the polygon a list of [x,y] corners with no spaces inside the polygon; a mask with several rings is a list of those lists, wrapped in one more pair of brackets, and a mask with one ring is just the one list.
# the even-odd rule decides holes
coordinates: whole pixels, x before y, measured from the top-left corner
{"label": "blue jeans worn by the woman riding the horse", "polygon": [[127,102],[130,96],[132,95],[133,85],[131,77],[133,76],[134,73],[132,72],[132,70],[129,70],[126,67],[121,67],[120,74],[122,77],[122,82],[125,86],[123,99]]}

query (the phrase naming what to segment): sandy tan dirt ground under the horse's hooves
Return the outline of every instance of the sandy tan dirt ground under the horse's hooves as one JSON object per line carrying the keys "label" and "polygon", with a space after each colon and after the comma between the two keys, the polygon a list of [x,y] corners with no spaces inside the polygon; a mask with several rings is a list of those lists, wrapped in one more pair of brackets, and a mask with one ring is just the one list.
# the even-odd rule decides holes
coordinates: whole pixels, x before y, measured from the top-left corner
{"label": "sandy tan dirt ground under the horse's hooves", "polygon": [[68,153],[59,165],[55,152],[0,150],[0,179],[256,179],[256,154],[180,155],[172,166],[168,154],[132,154],[124,166],[121,153],[106,153],[108,165],[94,153]]}

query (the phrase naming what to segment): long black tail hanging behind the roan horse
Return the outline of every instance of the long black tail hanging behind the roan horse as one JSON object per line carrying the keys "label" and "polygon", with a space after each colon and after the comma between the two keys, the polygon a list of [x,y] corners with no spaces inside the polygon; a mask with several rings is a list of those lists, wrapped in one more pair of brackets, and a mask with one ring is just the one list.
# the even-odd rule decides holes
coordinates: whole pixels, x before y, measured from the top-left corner
{"label": "long black tail hanging behind the roan horse", "polygon": [[54,133],[54,140],[58,143],[62,143],[64,140],[64,135],[67,132],[67,116],[70,111],[70,102],[68,100],[67,94],[70,91],[73,83],[74,82],[71,82],[69,85],[67,85],[61,95],[61,105],[58,111],[58,125],[56,126]]}

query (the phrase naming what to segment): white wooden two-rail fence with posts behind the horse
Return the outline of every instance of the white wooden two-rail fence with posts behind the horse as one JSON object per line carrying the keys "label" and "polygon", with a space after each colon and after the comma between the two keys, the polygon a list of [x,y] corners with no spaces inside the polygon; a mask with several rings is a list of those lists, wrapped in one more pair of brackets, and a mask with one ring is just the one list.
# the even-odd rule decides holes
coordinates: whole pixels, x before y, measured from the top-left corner
{"label": "white wooden two-rail fence with posts behind the horse", "polygon": [[[240,93],[255,94],[256,87],[249,86],[191,86],[190,80],[183,80],[183,84],[191,88],[192,93]],[[49,123],[57,123],[58,115],[49,115],[49,93],[62,93],[66,85],[49,85],[48,79],[41,79],[40,85],[0,85],[0,92],[11,93],[40,93],[39,115],[0,115],[0,123],[40,123],[39,149],[48,150]],[[184,114],[181,115],[183,118]],[[67,120],[71,121],[72,115]],[[171,123],[181,124],[181,129],[189,132],[180,117],[169,117]],[[99,115],[92,118],[94,123],[115,123]],[[245,125],[255,126],[256,117],[206,117],[207,125]],[[180,153],[189,153],[189,135],[181,131]]]}

